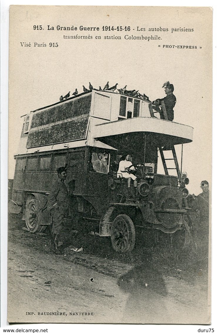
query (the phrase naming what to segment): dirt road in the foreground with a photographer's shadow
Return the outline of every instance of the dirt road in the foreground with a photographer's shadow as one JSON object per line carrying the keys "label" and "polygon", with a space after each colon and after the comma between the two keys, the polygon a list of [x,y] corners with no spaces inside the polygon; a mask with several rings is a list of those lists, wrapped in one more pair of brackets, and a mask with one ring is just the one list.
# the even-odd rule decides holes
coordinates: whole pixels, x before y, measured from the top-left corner
{"label": "dirt road in the foreground with a photographer's shadow", "polygon": [[[64,254],[56,256],[50,252],[48,232],[31,234],[23,227],[20,217],[10,216],[9,322],[209,321],[207,277],[202,269],[195,272],[193,281],[169,276],[147,258],[136,261],[135,254],[124,257],[114,253],[109,240],[94,235],[85,240],[89,247],[81,244],[81,237],[72,237]],[[82,252],[72,250],[81,245]]]}

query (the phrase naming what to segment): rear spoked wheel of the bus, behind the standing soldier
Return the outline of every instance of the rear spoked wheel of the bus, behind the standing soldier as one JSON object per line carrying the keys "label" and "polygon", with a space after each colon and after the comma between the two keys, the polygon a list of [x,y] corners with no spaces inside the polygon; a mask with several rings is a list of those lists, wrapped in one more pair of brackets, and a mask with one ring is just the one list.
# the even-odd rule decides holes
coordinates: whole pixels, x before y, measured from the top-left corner
{"label": "rear spoked wheel of the bus, behind the standing soldier", "polygon": [[25,221],[26,227],[32,233],[43,232],[46,226],[39,224],[39,203],[35,197],[32,197],[30,201],[26,203]]}

